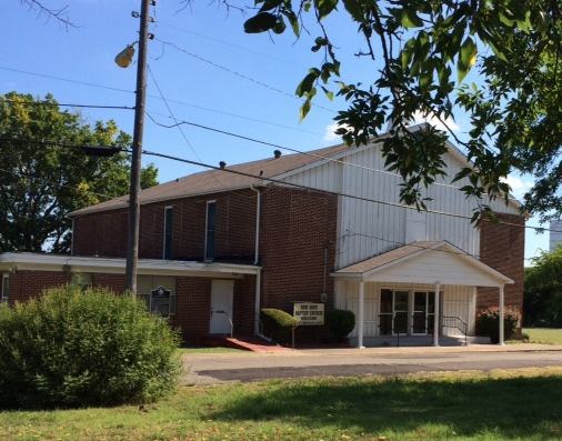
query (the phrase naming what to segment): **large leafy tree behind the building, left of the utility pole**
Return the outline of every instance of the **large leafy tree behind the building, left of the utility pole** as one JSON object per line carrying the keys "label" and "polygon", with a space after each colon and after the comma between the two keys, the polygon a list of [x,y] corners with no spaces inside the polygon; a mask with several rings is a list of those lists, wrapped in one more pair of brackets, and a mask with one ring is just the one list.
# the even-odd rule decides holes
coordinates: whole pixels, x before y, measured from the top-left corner
{"label": "large leafy tree behind the building, left of the utility pole", "polygon": [[[84,122],[61,111],[54,98],[16,92],[0,98],[0,138],[71,146],[129,147],[113,121]],[[87,157],[79,148],[0,140],[0,252],[70,251],[70,211],[127,194],[130,161]],[[143,188],[158,184],[158,169],[142,170]]]}

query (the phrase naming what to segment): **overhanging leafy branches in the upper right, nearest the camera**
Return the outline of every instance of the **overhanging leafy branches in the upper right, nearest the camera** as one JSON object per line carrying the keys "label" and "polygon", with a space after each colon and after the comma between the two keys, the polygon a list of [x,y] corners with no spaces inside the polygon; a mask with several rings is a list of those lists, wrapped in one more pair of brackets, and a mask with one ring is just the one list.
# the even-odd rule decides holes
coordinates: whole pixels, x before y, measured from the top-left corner
{"label": "overhanging leafy branches in the upper right, nearest the camera", "polygon": [[[285,21],[295,37],[304,29],[318,32],[312,52],[318,67],[309,70],[297,89],[304,99],[301,119],[313,98],[343,97],[338,134],[348,144],[364,144],[391,122],[384,140],[387,166],[404,184],[402,201],[425,208],[423,187],[445,173],[445,140],[454,138],[475,167],[461,170],[453,181],[468,178],[461,190],[479,202],[474,220],[492,199],[508,200],[510,172],[530,173],[536,186],[525,196],[525,208],[541,220],[562,213],[561,148],[562,89],[559,58],[562,26],[558,1],[545,0],[255,0],[258,13],[244,23],[245,32],[282,33]],[[358,26],[364,41],[359,56],[372,59],[377,70],[370,84],[339,81],[338,29],[327,17],[340,9]],[[343,12],[344,10],[344,12]],[[375,57],[373,48],[381,48]],[[353,48],[354,49],[354,48]],[[463,81],[471,70],[484,78]],[[471,120],[470,139],[430,129],[415,137],[405,128],[418,112],[446,128],[453,111]],[[554,209],[555,212],[550,210]]]}

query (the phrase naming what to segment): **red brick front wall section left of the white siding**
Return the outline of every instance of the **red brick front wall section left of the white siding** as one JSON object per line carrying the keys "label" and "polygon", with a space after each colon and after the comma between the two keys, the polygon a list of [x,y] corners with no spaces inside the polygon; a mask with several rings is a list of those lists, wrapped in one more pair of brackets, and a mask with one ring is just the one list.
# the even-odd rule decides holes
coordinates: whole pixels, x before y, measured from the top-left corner
{"label": "red brick front wall section left of the white siding", "polygon": [[[263,193],[262,308],[292,314],[293,301],[320,302],[320,294],[325,291],[328,312],[333,304],[333,278],[329,274],[335,261],[337,213],[338,198],[332,194],[287,188],[272,188]],[[327,334],[325,327],[297,330],[301,342]]]}

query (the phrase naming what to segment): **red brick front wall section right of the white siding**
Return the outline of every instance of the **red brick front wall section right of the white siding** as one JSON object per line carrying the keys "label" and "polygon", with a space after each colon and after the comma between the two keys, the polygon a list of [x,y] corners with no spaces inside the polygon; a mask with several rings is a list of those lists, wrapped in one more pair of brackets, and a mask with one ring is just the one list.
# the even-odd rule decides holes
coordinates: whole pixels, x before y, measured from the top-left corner
{"label": "red brick front wall section right of the white siding", "polygon": [[[496,217],[501,222],[515,225],[484,222],[480,230],[480,260],[515,281],[505,285],[505,307],[515,309],[522,322],[525,253],[525,229],[522,225],[525,224],[525,219],[508,213],[496,213]],[[498,288],[479,287],[476,313],[489,307],[498,307],[499,301]]]}

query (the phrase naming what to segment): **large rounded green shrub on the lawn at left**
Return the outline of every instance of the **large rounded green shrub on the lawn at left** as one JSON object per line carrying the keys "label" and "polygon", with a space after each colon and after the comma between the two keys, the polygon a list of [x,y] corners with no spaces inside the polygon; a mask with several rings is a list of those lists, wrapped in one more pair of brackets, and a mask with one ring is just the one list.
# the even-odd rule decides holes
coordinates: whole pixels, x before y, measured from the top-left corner
{"label": "large rounded green shrub on the lawn at left", "polygon": [[130,295],[78,284],[0,307],[0,407],[157,400],[181,374],[179,337]]}

